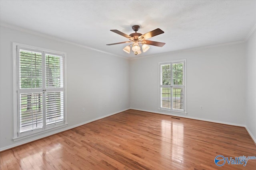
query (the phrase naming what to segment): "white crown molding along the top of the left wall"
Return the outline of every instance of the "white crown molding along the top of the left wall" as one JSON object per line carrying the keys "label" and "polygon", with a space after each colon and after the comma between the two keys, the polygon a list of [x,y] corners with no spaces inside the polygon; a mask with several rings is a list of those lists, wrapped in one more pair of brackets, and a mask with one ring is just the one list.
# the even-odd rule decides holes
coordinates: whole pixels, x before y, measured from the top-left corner
{"label": "white crown molding along the top of the left wall", "polygon": [[92,50],[92,51],[98,51],[98,52],[100,52],[100,53],[112,55],[112,56],[115,56],[115,57],[120,57],[120,58],[123,58],[123,59],[128,59],[127,57],[124,57],[124,56],[116,55],[116,54],[113,54],[113,53],[108,53],[108,52],[106,52],[106,51],[94,49],[94,48],[88,47],[88,46],[86,46],[86,45],[74,43],[74,42],[72,42],[72,41],[68,41],[68,40],[61,39],[61,38],[57,38],[57,37],[50,36],[50,35],[47,35],[47,34],[39,33],[39,32],[36,32],[36,31],[32,31],[32,30],[30,30],[30,29],[18,27],[18,26],[15,26],[15,25],[10,25],[10,24],[8,24],[8,23],[0,22],[0,26],[2,26],[2,27],[7,27],[7,28],[10,28],[10,29],[14,29],[14,30],[16,30],[16,31],[21,31],[21,32],[25,32],[25,33],[30,33],[30,34],[32,34],[32,35],[37,35],[37,36],[39,36],[39,37],[44,37],[44,38],[52,39],[52,40],[59,41],[59,42],[62,42],[62,43],[68,43],[68,44],[75,45],[75,46],[78,46],[78,47],[90,49],[90,50]]}

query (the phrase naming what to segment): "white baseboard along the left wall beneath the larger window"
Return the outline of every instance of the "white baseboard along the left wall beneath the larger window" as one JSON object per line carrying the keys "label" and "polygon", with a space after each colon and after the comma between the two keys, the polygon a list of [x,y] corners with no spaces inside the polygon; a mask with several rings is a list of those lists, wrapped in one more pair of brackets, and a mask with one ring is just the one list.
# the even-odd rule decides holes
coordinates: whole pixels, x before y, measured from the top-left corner
{"label": "white baseboard along the left wall beneath the larger window", "polygon": [[40,134],[40,135],[37,135],[35,136],[34,138],[30,138],[26,141],[22,141],[22,142],[19,142],[19,143],[15,143],[14,145],[9,145],[7,147],[2,147],[0,148],[0,151],[4,151],[4,150],[7,150],[7,149],[11,149],[11,148],[14,148],[14,147],[18,147],[20,145],[24,145],[26,143],[29,143],[29,142],[32,142],[32,141],[36,141],[38,139],[42,139],[44,137],[48,137],[48,136],[51,136],[51,135],[54,135],[56,133],[60,133],[60,132],[63,132],[63,131],[66,131],[66,130],[70,130],[70,129],[73,129],[75,127],[78,127],[78,126],[81,126],[81,125],[85,125],[87,123],[90,123],[92,121],[96,121],[96,120],[99,120],[99,119],[102,119],[104,117],[108,117],[108,116],[111,116],[111,115],[115,115],[117,113],[120,113],[120,112],[123,112],[123,111],[126,111],[126,110],[129,110],[130,108],[127,108],[127,109],[123,109],[123,110],[120,110],[120,111],[116,111],[114,113],[110,113],[108,115],[104,115],[104,116],[101,116],[101,117],[97,117],[96,119],[92,119],[92,120],[89,120],[89,121],[86,121],[86,122],[83,122],[83,123],[79,123],[77,125],[73,125],[73,126],[70,126],[70,127],[66,127],[66,128],[62,128],[62,129],[58,129],[56,131],[51,131],[50,133],[43,133],[43,134]]}

